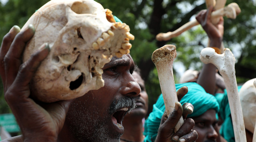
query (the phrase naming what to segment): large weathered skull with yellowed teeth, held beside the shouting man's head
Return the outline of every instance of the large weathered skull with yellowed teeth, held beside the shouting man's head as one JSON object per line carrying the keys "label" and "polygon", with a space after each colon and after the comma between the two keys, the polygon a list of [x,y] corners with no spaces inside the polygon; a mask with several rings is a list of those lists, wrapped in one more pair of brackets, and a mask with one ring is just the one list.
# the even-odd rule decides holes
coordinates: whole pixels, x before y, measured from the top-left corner
{"label": "large weathered skull with yellowed teeth, held beside the shouting man's head", "polygon": [[36,71],[31,96],[42,102],[73,99],[104,86],[102,68],[113,56],[130,52],[134,36],[125,23],[94,0],[51,0],[21,30],[34,25],[23,62],[49,43],[50,53]]}

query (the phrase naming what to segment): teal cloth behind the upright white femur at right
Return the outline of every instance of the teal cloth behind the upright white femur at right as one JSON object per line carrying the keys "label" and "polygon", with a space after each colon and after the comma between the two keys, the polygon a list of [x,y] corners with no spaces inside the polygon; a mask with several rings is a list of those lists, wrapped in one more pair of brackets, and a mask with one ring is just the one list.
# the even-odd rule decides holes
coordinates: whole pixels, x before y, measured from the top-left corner
{"label": "teal cloth behind the upright white femur at right", "polygon": [[[242,86],[237,86],[238,92]],[[220,94],[218,94],[220,95]],[[227,91],[224,90],[223,99],[220,101],[220,116],[223,120],[221,125],[220,134],[222,137],[227,140],[227,142],[235,142],[235,134],[232,124],[231,111],[227,98]]]}

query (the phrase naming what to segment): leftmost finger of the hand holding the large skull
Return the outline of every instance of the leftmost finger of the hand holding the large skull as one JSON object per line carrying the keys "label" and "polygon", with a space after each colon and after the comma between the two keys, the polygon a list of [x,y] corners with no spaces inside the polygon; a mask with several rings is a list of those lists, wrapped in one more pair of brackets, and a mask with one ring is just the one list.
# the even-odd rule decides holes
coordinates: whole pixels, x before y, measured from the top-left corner
{"label": "leftmost finger of the hand holding the large skull", "polygon": [[14,39],[14,37],[20,32],[20,27],[19,26],[13,26],[9,33],[7,33],[4,37],[3,37],[3,41],[1,44],[1,48],[0,48],[0,75],[3,81],[3,86],[5,86],[5,80],[6,80],[6,76],[5,76],[5,71],[4,71],[4,56],[6,56],[7,51],[9,50],[11,43]]}

